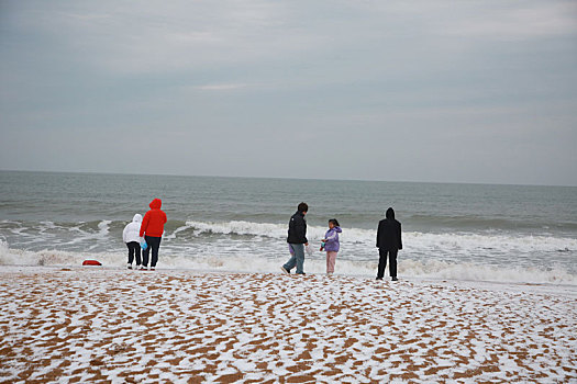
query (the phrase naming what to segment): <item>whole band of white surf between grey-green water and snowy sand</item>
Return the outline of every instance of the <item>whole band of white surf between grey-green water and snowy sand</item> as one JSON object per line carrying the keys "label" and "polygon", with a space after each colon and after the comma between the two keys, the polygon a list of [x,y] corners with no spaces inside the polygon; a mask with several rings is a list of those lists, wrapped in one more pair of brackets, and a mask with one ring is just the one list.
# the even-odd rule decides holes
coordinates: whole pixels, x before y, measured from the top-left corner
{"label": "whole band of white surf between grey-green water and snowy sand", "polygon": [[[124,247],[111,239],[118,236],[110,227],[110,221],[101,221],[92,229],[87,228],[84,223],[73,228],[62,228],[68,233],[73,230],[73,238],[54,238],[51,230],[60,230],[60,227],[52,222],[42,223],[43,230],[35,234],[34,230],[16,227],[19,234],[21,233],[19,237],[25,238],[25,241],[12,249],[7,241],[0,241],[0,263],[78,266],[85,259],[98,259],[106,266],[122,267],[126,257]],[[324,227],[309,226],[309,240],[314,245],[324,236],[325,230]],[[343,230],[337,272],[374,275],[377,267],[375,230],[346,227]],[[214,236],[207,237],[207,234]],[[240,237],[231,238],[231,235]],[[277,272],[288,257],[286,236],[286,224],[187,222],[165,234],[159,267]],[[37,250],[42,241],[45,241],[46,249]],[[572,273],[570,268],[567,269],[567,263],[570,263],[570,258],[577,250],[575,238],[498,233],[406,231],[403,242],[404,249],[399,257],[399,274],[406,278],[577,285],[577,276]],[[19,249],[25,244],[34,245],[36,250]],[[112,246],[114,244],[118,246]],[[70,246],[71,249],[67,248]],[[79,247],[86,251],[75,249]],[[551,262],[535,266],[534,260],[540,259],[540,255],[546,255]],[[555,267],[558,260],[564,266]],[[554,267],[551,268],[550,264]],[[314,257],[307,258],[307,271],[322,273],[324,268],[322,253],[315,252]]]}

